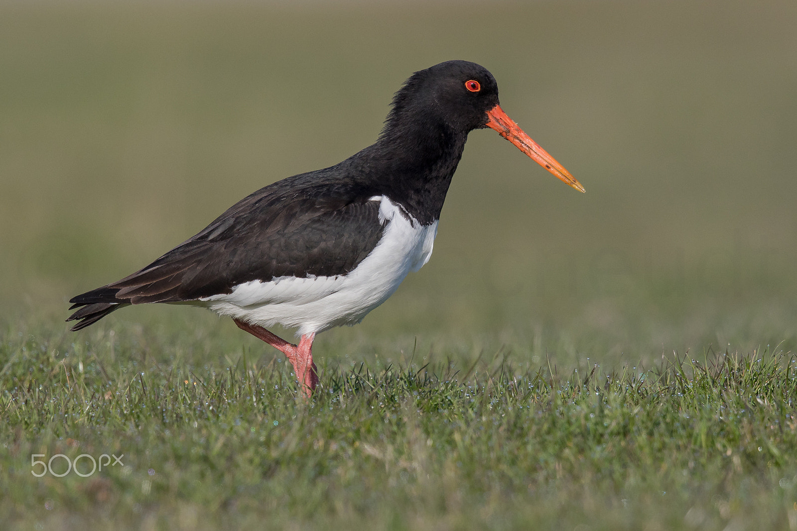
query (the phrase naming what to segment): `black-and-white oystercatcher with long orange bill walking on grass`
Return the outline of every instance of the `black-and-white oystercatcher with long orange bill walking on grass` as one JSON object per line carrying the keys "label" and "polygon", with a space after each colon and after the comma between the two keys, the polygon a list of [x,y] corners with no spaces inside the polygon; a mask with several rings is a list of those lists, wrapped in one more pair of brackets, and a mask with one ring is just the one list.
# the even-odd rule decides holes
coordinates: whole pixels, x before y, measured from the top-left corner
{"label": "black-and-white oystercatcher with long orange bill walking on grass", "polygon": [[[426,264],[465,140],[488,127],[584,192],[501,109],[493,74],[446,61],[402,84],[371,146],[258,189],[147,267],[73,297],[70,330],[132,304],[202,306],[284,353],[311,397],[316,334],[361,322]],[[277,324],[299,341],[267,330]]]}

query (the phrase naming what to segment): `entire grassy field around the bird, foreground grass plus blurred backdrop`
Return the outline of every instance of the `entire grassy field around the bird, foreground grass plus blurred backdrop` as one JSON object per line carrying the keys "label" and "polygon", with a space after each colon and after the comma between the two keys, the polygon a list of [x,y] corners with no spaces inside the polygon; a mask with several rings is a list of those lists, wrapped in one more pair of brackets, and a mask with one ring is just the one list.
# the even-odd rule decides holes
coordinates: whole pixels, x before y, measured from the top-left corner
{"label": "entire grassy field around the bird, foreground grass plus blurred backdrop", "polygon": [[[795,27],[793,2],[0,3],[3,527],[797,529]],[[311,402],[200,310],[67,331],[70,296],[371,143],[453,58],[587,193],[474,131],[432,260],[318,338]],[[124,467],[31,474],[57,454]]]}

